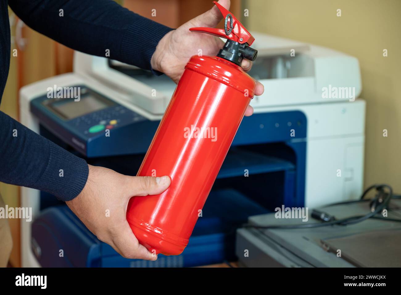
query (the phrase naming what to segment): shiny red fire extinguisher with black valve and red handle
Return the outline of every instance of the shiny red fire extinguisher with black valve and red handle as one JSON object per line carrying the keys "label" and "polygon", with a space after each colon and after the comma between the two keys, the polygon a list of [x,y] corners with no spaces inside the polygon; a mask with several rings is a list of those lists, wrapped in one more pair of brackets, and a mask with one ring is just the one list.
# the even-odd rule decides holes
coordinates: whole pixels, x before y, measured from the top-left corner
{"label": "shiny red fire extinguisher with black valve and red handle", "polygon": [[255,38],[227,9],[224,29],[190,28],[227,39],[217,56],[193,56],[185,66],[170,104],[137,176],[168,175],[162,194],[133,197],[127,220],[140,244],[156,254],[179,255],[188,244],[255,91],[255,80],[241,69],[254,61]]}

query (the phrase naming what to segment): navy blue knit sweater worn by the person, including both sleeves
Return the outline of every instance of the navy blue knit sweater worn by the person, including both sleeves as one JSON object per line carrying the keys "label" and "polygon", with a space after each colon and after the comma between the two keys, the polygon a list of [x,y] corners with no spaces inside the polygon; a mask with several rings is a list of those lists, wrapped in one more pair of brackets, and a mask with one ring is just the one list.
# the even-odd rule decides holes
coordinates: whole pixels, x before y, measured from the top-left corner
{"label": "navy blue knit sweater worn by the person, including both sleeves", "polygon": [[[103,57],[109,49],[111,59],[142,69],[151,69],[156,45],[172,30],[111,0],[0,0],[0,103],[10,66],[8,5],[32,29],[66,46]],[[0,111],[1,182],[68,201],[81,192],[87,177],[85,160]]]}

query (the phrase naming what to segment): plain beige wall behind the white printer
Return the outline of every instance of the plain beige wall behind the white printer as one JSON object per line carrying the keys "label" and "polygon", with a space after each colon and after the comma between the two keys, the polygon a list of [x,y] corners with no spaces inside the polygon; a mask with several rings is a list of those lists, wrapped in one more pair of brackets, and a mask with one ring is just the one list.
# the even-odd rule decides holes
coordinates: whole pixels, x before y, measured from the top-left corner
{"label": "plain beige wall behind the white printer", "polygon": [[367,101],[365,187],[385,182],[401,193],[401,1],[248,0],[244,8],[251,32],[318,44],[359,59],[360,97]]}

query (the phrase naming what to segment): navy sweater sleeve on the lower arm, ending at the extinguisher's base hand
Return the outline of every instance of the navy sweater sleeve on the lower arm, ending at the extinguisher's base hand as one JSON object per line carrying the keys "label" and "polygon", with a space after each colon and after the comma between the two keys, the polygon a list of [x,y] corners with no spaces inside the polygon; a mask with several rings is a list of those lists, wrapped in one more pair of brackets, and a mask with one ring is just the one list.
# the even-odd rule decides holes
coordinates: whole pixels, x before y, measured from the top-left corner
{"label": "navy sweater sleeve on the lower arm, ending at the extinguisher's base hand", "polygon": [[85,186],[88,165],[0,111],[0,181],[75,198]]}

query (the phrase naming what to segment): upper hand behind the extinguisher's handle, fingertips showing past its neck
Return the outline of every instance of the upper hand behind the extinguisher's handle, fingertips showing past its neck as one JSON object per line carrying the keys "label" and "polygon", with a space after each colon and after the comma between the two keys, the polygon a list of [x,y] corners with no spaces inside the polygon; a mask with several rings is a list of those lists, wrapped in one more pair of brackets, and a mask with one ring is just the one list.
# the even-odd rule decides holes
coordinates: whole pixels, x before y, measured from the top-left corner
{"label": "upper hand behind the extinguisher's handle, fingertips showing past its neck", "polygon": [[[230,9],[230,0],[220,0],[219,4],[227,10]],[[156,71],[163,72],[170,77],[175,83],[184,73],[184,67],[188,63],[190,57],[198,54],[198,50],[202,50],[202,55],[215,56],[224,42],[215,36],[203,33],[190,32],[192,27],[209,27],[214,28],[223,19],[219,8],[213,6],[211,10],[193,18],[186,22],[176,30],[168,32],[159,42],[154,52],[151,64]],[[247,72],[252,67],[252,62],[243,59],[242,69]],[[263,85],[256,82],[255,95],[262,95]],[[245,116],[250,116],[253,108],[248,106]]]}

